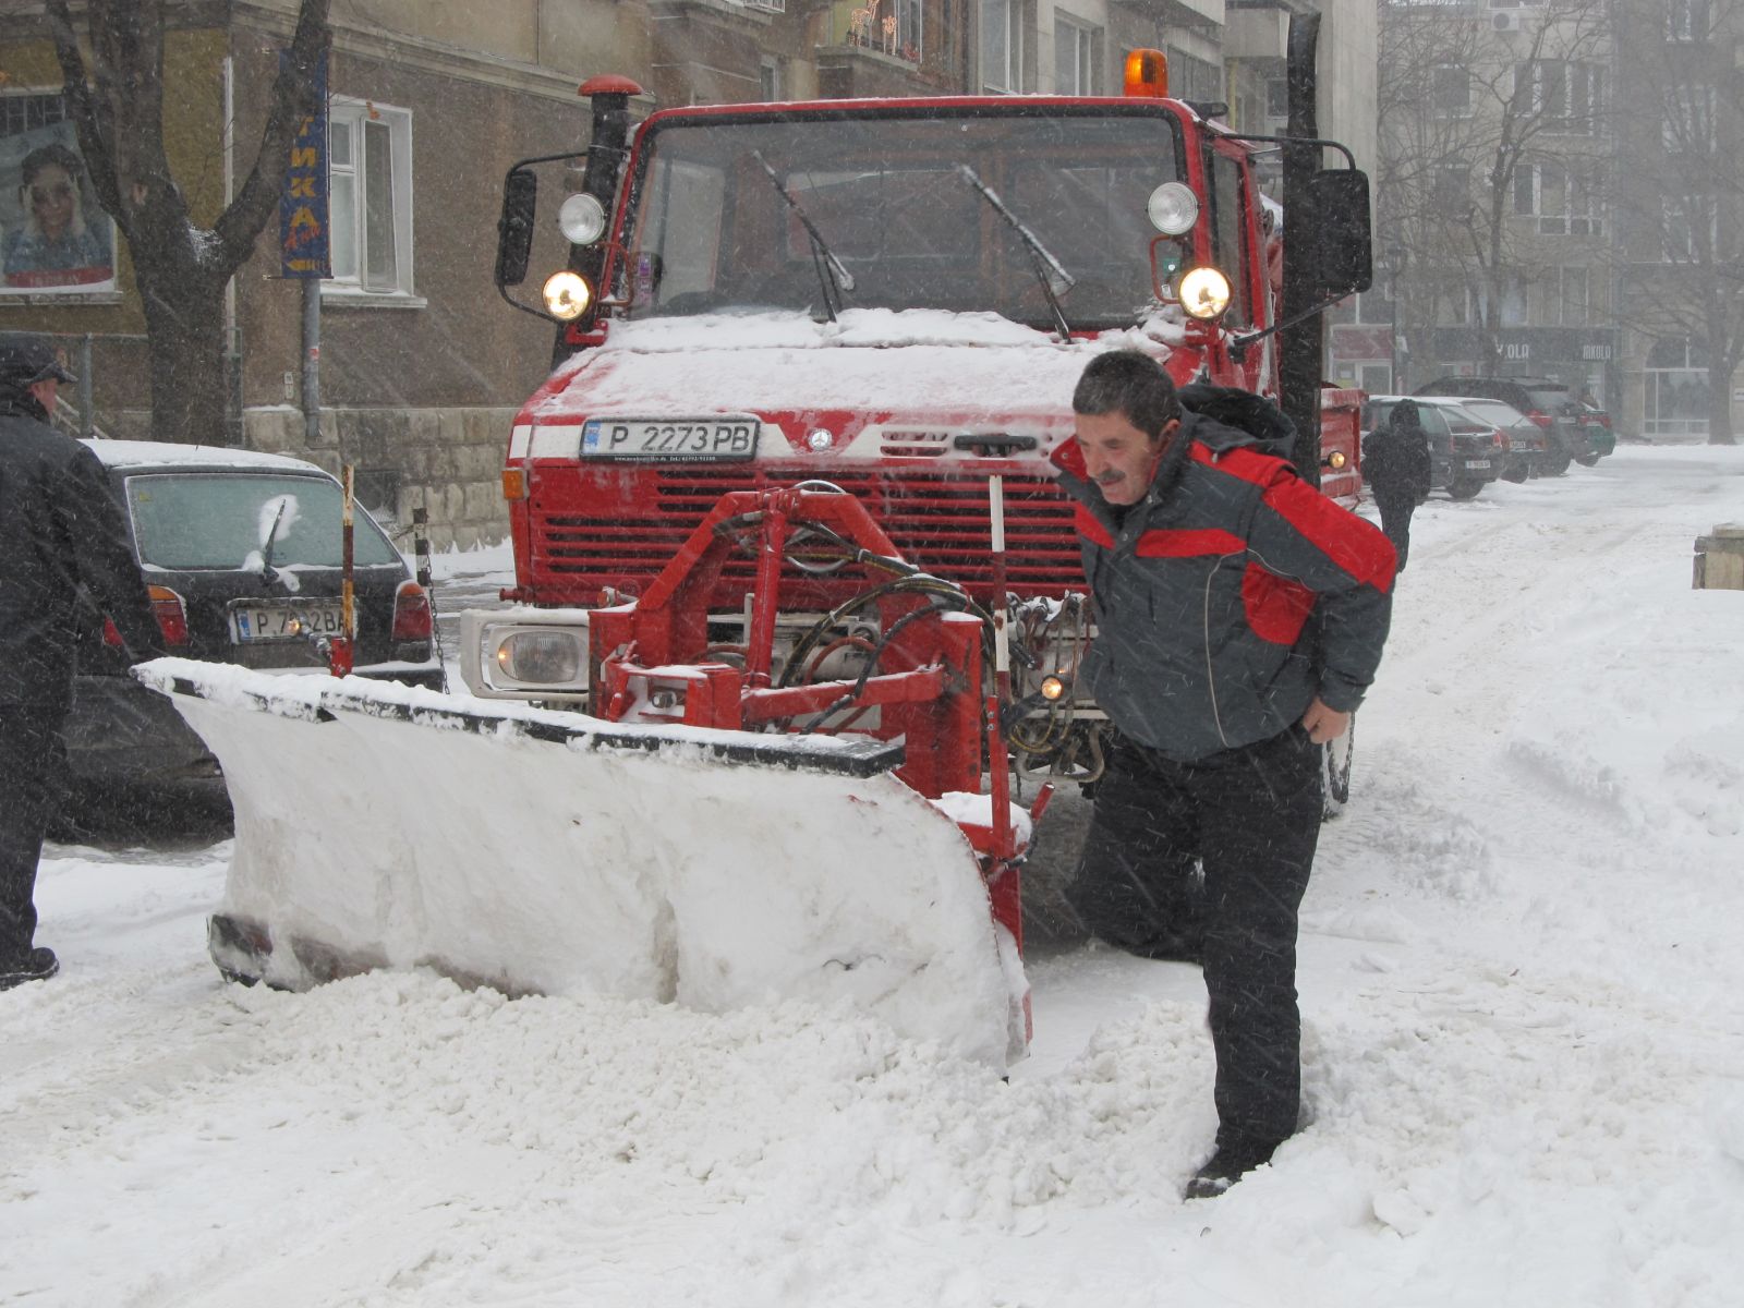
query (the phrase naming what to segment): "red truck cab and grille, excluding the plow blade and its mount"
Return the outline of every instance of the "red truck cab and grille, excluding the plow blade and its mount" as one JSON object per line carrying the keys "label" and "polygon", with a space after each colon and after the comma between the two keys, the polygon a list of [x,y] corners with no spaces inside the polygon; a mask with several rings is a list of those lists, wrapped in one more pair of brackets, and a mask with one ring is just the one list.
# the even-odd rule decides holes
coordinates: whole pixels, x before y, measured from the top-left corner
{"label": "red truck cab and grille, excluding the plow blade and its mount", "polygon": [[[1311,98],[1311,38],[1292,33],[1292,61]],[[504,598],[523,607],[473,616],[474,694],[593,705],[582,610],[645,593],[724,492],[830,488],[910,565],[1003,610],[1013,760],[1088,780],[1102,719],[1069,689],[1090,631],[1048,462],[1085,363],[1135,347],[1177,384],[1278,399],[1298,467],[1355,499],[1360,392],[1322,387],[1318,335],[1369,284],[1367,180],[1318,166],[1343,146],[1224,129],[1221,105],[1168,96],[1156,51],[1132,52],[1118,98],[712,105],[631,129],[633,82],[581,92],[593,146],[556,208],[567,267],[537,300],[513,293],[537,169],[582,155],[523,160],[504,190],[497,281],[558,323],[558,364],[508,441]],[[1285,153],[1282,209],[1263,150]],[[712,582],[722,651],[748,640],[755,567],[741,555]],[[823,612],[842,612],[834,638],[865,635],[837,567],[788,562],[778,657]]]}

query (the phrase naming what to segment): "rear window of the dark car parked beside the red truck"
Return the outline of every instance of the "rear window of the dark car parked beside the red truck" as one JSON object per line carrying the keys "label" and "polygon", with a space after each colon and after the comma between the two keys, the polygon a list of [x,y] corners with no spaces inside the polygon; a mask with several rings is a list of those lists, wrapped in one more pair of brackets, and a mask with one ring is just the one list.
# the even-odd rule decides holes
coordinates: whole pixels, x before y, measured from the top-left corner
{"label": "rear window of the dark car parked beside the red truck", "polygon": [[[344,492],[337,481],[276,473],[148,473],[127,478],[140,562],[199,569],[340,567]],[[270,549],[269,549],[270,546]],[[398,563],[366,513],[352,516],[356,567]]]}

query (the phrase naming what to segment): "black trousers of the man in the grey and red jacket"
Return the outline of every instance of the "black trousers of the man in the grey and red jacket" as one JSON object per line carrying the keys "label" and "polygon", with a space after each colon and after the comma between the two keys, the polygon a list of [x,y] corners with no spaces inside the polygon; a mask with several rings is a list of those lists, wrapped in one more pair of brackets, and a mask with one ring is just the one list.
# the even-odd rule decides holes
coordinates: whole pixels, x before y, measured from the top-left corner
{"label": "black trousers of the man in the grey and red jacket", "polygon": [[1322,806],[1320,746],[1299,726],[1193,762],[1116,736],[1069,891],[1109,944],[1198,952],[1217,1053],[1217,1149],[1236,1156],[1264,1160],[1296,1134],[1296,910]]}

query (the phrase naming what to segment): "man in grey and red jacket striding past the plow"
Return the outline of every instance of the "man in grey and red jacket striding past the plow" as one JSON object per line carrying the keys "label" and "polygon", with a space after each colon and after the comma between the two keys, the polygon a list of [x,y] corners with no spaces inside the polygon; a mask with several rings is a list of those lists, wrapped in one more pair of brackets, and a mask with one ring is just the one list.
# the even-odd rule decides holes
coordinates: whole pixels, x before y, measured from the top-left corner
{"label": "man in grey and red jacket striding past the plow", "polygon": [[1203,966],[1217,1146],[1186,1193],[1209,1198],[1296,1130],[1320,746],[1380,664],[1393,548],[1296,474],[1292,427],[1259,396],[1177,394],[1153,358],[1116,351],[1073,410],[1053,462],[1095,600],[1080,682],[1113,739],[1069,898],[1099,938]]}

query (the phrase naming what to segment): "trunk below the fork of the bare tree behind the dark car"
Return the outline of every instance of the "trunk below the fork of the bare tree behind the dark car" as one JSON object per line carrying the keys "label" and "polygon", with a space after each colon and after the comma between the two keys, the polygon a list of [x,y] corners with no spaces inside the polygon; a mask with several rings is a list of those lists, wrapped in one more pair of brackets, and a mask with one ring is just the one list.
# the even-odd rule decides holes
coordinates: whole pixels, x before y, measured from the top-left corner
{"label": "trunk below the fork of the bare tree behind the dark car", "polygon": [[230,445],[223,279],[136,265],[152,363],[152,439]]}

